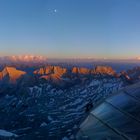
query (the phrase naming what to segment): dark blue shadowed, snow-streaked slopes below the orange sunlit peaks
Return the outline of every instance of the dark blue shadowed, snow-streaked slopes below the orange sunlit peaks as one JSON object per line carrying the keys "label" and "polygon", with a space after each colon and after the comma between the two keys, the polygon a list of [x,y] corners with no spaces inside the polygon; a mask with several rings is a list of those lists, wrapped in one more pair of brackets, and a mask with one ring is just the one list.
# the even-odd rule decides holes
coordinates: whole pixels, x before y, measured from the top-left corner
{"label": "dark blue shadowed, snow-streaked slopes below the orange sunlit peaks", "polygon": [[68,89],[50,84],[28,87],[28,94],[0,98],[0,128],[19,135],[16,139],[20,140],[74,139],[88,115],[85,106],[89,100],[96,105],[122,86],[120,79],[107,77]]}

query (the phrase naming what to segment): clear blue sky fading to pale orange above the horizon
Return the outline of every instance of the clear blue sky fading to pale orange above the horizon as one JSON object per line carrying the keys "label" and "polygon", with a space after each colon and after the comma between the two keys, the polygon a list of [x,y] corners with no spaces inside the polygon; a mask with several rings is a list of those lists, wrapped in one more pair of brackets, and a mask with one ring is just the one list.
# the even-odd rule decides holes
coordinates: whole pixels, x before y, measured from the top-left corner
{"label": "clear blue sky fading to pale orange above the horizon", "polygon": [[140,57],[139,0],[0,0],[0,55]]}

